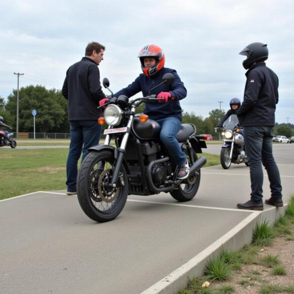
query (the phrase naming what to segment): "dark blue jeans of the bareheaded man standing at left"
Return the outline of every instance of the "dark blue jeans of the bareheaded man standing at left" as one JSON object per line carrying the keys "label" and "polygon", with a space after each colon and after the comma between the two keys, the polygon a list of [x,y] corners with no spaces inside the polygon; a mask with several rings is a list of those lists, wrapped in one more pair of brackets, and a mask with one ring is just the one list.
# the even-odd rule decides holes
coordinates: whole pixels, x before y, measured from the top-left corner
{"label": "dark blue jeans of the bareheaded man standing at left", "polygon": [[76,191],[77,162],[89,153],[88,149],[99,144],[101,125],[97,121],[71,121],[71,144],[66,163],[67,191]]}

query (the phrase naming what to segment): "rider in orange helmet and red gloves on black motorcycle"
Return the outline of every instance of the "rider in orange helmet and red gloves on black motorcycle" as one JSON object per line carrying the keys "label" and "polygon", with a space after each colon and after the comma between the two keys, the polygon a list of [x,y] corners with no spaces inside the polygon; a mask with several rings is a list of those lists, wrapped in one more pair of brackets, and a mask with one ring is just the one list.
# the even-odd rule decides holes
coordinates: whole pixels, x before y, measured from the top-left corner
{"label": "rider in orange helmet and red gloves on black motorcycle", "polygon": [[[156,45],[147,45],[141,49],[138,55],[141,73],[135,81],[126,88],[120,90],[115,97],[125,95],[128,98],[142,91],[143,96],[155,94],[158,102],[146,102],[144,113],[161,125],[160,140],[173,155],[174,162],[178,165],[177,178],[186,179],[189,176],[189,165],[185,152],[183,152],[175,139],[175,134],[180,130],[182,112],[179,100],[187,96],[187,90],[175,70],[165,68],[165,55]],[[172,73],[174,82],[172,85],[161,85],[151,90],[162,82],[165,73]]]}

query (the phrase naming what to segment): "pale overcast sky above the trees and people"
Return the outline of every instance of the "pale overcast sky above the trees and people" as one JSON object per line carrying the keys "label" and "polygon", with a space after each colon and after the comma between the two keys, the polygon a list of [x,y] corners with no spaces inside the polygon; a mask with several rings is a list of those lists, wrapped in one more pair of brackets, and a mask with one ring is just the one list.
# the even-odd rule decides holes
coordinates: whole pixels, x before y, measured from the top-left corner
{"label": "pale overcast sky above the trees and people", "polygon": [[293,0],[0,0],[0,16],[2,98],[17,89],[14,73],[24,73],[20,87],[61,89],[91,41],[106,47],[100,76],[117,92],[141,73],[140,49],[156,44],[187,88],[182,108],[205,118],[243,100],[238,53],[262,42],[280,80],[276,122],[294,123]]}

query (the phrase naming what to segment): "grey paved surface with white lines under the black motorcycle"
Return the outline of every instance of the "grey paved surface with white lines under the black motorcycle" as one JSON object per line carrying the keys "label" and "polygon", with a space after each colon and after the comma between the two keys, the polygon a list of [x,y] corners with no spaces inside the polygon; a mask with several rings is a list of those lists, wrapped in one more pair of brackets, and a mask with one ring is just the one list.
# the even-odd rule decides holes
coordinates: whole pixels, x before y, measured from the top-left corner
{"label": "grey paved surface with white lines under the black motorcycle", "polygon": [[[294,144],[273,147],[286,202],[294,193]],[[220,149],[208,145],[205,152]],[[65,191],[2,200],[0,293],[176,293],[222,245],[242,247],[254,221],[274,220],[285,208],[236,209],[249,195],[249,168],[242,164],[201,169],[198,193],[189,202],[166,193],[129,196],[120,216],[106,223],[90,220]]]}

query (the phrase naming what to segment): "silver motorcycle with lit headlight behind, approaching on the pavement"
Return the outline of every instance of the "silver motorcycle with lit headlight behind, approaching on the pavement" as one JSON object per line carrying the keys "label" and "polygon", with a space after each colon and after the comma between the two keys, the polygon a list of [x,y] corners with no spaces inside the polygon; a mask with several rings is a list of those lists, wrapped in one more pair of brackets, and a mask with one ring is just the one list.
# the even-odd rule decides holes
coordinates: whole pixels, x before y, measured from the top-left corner
{"label": "silver motorcycle with lit headlight behind, approaching on the pavement", "polygon": [[[221,166],[227,170],[231,163],[247,163],[247,157],[244,150],[243,129],[238,127],[239,121],[235,114],[229,116],[222,124],[221,135],[224,136],[221,146]],[[216,130],[218,128],[215,128]]]}

